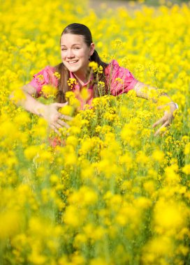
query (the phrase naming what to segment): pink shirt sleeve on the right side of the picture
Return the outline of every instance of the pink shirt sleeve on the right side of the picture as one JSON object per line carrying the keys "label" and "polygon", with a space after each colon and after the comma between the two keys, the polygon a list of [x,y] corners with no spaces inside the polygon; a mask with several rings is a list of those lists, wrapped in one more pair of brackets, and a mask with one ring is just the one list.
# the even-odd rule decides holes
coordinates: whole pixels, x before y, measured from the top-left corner
{"label": "pink shirt sleeve on the right side of the picture", "polygon": [[120,67],[116,60],[112,60],[107,68],[105,68],[105,76],[108,91],[110,91],[112,96],[127,93],[138,82],[131,72],[124,67]]}

